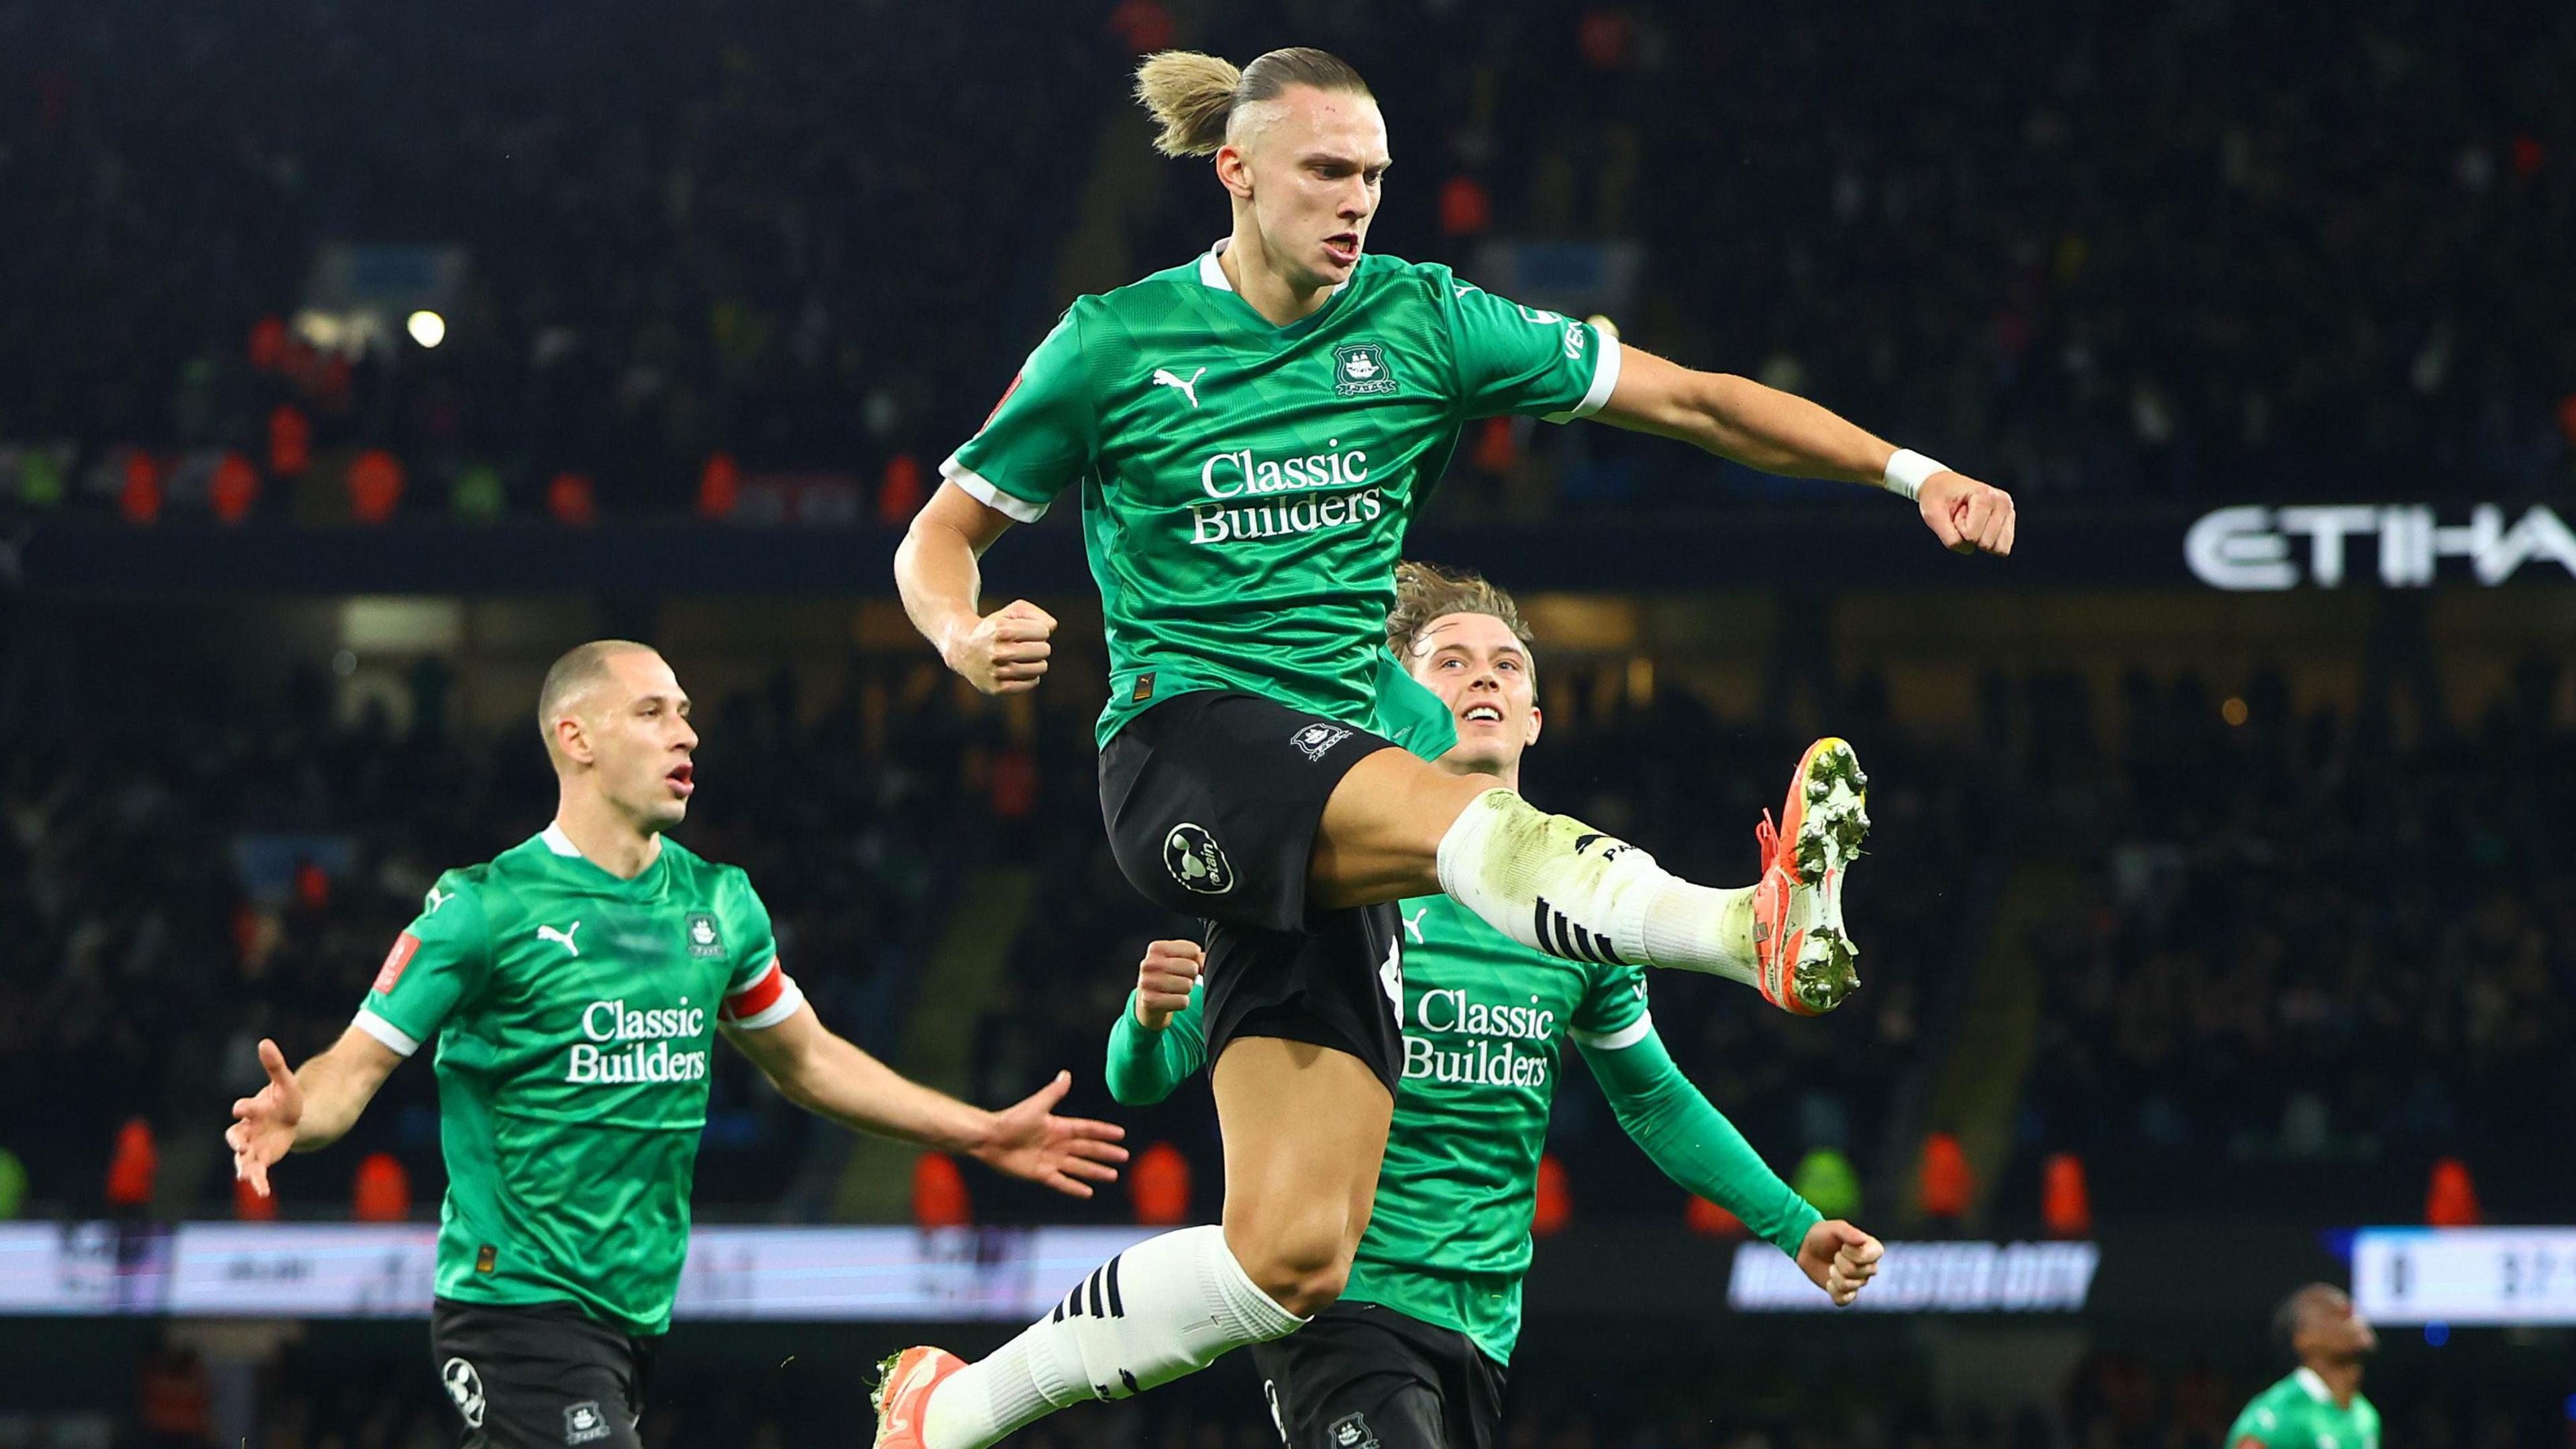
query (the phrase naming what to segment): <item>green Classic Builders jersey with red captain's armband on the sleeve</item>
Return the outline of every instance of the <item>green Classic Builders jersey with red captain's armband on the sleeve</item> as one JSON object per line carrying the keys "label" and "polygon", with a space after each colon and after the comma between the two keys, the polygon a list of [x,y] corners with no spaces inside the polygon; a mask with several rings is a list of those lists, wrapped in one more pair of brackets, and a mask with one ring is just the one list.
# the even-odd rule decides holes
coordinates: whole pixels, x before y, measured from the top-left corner
{"label": "green Classic Builders jersey with red captain's armband on the sleeve", "polygon": [[549,825],[438,877],[358,1011],[404,1057],[438,1039],[438,1297],[662,1333],[716,1024],[801,1003],[750,877],[677,841],[618,879]]}

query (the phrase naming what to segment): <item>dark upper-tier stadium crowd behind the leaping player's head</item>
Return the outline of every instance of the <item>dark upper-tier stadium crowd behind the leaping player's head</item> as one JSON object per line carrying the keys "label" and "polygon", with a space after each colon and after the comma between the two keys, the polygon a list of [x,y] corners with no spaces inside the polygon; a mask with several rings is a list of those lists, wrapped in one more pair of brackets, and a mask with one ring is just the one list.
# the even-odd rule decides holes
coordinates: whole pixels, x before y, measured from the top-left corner
{"label": "dark upper-tier stadium crowd behind the leaping player's head", "polygon": [[[1396,3],[1206,34],[1151,0],[750,5],[711,39],[582,5],[116,0],[10,26],[15,511],[126,505],[131,449],[183,511],[229,449],[258,511],[330,516],[276,503],[286,472],[384,449],[412,513],[582,518],[556,477],[677,513],[721,454],[850,480],[806,518],[902,518],[1061,302],[1100,121],[1175,39],[1381,77],[1406,157],[1383,250],[1641,242],[1631,340],[2017,490],[2530,495],[2576,441],[2576,302],[2548,284],[2576,253],[2576,21],[2548,5]],[[1092,206],[1131,271],[1221,224],[1185,168]],[[278,322],[332,242],[386,240],[430,260],[353,276],[461,258],[440,348],[332,358]],[[1528,454],[1463,467],[1535,472],[1540,516],[1762,487],[1692,487],[1710,469],[1662,443]]]}

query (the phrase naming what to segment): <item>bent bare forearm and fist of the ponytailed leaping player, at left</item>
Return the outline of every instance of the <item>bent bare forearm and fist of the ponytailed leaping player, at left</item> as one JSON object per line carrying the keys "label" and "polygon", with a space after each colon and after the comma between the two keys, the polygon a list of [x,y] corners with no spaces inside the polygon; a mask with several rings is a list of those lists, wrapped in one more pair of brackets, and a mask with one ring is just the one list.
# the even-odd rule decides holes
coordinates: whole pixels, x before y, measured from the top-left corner
{"label": "bent bare forearm and fist of the ponytailed leaping player, at left", "polygon": [[938,647],[948,668],[984,694],[1038,688],[1051,650],[1046,637],[1056,632],[1056,619],[1025,598],[994,614],[979,611],[984,572],[976,559],[1007,529],[1010,513],[943,482],[894,549],[894,585],[912,627]]}

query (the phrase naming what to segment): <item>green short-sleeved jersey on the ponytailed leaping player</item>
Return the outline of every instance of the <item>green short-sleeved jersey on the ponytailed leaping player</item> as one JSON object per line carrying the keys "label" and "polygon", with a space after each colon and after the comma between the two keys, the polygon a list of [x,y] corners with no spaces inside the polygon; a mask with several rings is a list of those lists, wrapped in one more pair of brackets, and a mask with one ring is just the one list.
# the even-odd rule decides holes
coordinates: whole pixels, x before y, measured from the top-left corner
{"label": "green short-sleeved jersey on the ponytailed leaping player", "polygon": [[1193,688],[1365,724],[1404,529],[1458,428],[1584,418],[1618,384],[1615,338],[1445,266],[1368,255],[1275,327],[1218,250],[1077,299],[940,464],[1020,521],[1082,485],[1110,647],[1103,745]]}

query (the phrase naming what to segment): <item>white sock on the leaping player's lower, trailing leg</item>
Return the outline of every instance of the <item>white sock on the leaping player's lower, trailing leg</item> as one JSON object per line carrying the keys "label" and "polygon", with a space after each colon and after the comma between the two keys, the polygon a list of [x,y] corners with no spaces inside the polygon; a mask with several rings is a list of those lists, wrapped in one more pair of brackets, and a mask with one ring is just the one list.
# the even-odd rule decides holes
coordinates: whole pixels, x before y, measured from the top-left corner
{"label": "white sock on the leaping player's lower, trailing leg", "polygon": [[1164,1232],[1092,1269],[1054,1312],[940,1379],[922,1410],[922,1444],[989,1449],[1059,1408],[1167,1385],[1303,1323],[1255,1287],[1224,1227]]}

